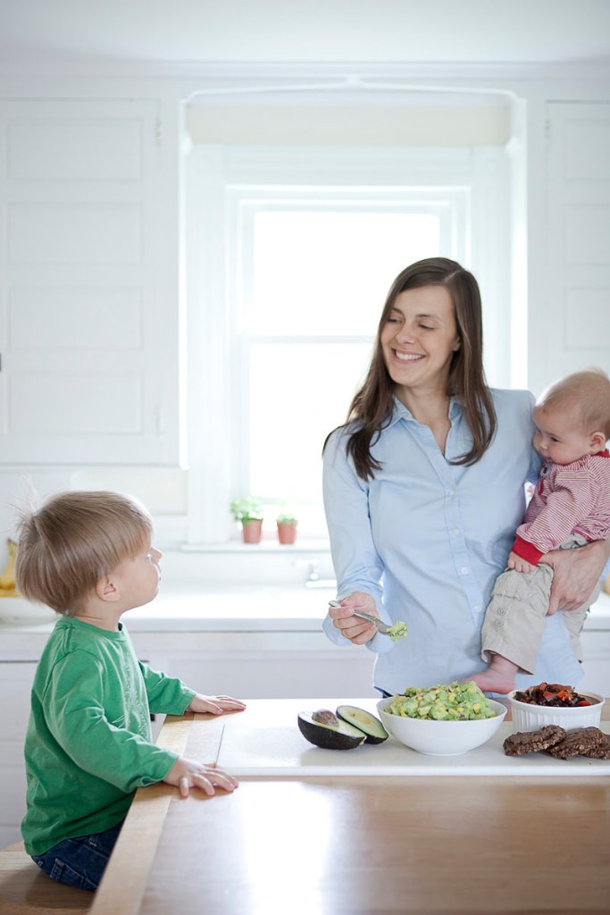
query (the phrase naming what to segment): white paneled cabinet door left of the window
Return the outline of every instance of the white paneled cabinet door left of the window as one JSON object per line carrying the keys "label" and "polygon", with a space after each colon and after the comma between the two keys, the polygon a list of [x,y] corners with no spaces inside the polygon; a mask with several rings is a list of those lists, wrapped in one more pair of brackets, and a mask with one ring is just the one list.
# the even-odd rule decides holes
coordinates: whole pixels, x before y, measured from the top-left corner
{"label": "white paneled cabinet door left of the window", "polygon": [[177,463],[177,154],[159,125],[155,100],[0,104],[3,463]]}

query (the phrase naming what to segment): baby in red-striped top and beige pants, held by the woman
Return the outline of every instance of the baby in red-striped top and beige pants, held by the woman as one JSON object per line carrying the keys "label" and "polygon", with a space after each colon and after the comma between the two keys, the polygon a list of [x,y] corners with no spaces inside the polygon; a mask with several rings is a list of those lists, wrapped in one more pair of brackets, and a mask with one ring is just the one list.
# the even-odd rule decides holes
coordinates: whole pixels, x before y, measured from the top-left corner
{"label": "baby in red-striped top and beige pants, held by the woman", "polygon": [[[506,694],[515,674],[533,673],[553,571],[540,560],[610,534],[610,380],[600,370],[578,371],[545,391],[534,407],[533,444],[544,463],[525,520],[498,576],[481,633],[487,671],[472,679],[487,692]],[[563,620],[573,651],[583,660],[580,632],[599,587]]]}

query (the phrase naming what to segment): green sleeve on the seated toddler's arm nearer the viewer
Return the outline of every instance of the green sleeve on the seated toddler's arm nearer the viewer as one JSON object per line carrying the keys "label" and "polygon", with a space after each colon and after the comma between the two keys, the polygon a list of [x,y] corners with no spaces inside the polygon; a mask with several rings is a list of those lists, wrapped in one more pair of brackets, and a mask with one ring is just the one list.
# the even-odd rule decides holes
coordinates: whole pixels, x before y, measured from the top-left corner
{"label": "green sleeve on the seated toddler's arm nearer the viewer", "polygon": [[80,769],[121,791],[163,780],[177,754],[112,724],[102,701],[105,687],[102,663],[88,652],[58,662],[44,695],[49,731]]}

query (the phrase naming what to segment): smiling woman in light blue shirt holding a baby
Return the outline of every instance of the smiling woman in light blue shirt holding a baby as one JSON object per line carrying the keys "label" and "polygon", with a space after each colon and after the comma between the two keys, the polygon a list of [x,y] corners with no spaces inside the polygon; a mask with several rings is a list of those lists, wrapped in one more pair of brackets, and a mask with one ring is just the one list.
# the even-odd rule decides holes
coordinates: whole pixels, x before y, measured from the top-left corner
{"label": "smiling woman in light blue shirt holding a baby", "polygon": [[[324,498],[337,596],[324,628],[337,644],[376,654],[374,684],[462,680],[479,671],[480,628],[536,479],[533,397],[487,388],[481,301],[475,277],[430,258],[398,275],[381,314],[369,373],[348,424],[326,440]],[[550,616],[536,670],[576,684],[580,665],[558,602],[583,603],[610,553],[606,542],[549,554]],[[391,641],[354,617],[362,609],[404,620]]]}

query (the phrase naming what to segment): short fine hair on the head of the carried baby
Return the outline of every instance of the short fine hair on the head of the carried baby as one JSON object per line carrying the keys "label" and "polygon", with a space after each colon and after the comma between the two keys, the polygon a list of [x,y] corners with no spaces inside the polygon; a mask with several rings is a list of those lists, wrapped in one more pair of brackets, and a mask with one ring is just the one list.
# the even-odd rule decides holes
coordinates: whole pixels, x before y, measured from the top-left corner
{"label": "short fine hair on the head of the carried baby", "polygon": [[575,371],[544,391],[537,406],[542,410],[573,411],[586,433],[603,432],[610,438],[610,379],[602,369]]}

